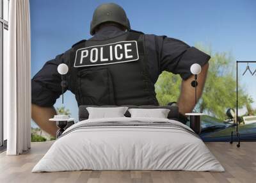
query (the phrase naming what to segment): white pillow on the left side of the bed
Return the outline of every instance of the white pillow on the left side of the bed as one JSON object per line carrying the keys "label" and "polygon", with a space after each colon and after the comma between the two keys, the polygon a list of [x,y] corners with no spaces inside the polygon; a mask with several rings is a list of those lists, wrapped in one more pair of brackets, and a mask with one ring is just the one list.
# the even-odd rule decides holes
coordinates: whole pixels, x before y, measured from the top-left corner
{"label": "white pillow on the left side of the bed", "polygon": [[128,107],[86,107],[89,117],[96,118],[120,118],[125,117],[124,114]]}

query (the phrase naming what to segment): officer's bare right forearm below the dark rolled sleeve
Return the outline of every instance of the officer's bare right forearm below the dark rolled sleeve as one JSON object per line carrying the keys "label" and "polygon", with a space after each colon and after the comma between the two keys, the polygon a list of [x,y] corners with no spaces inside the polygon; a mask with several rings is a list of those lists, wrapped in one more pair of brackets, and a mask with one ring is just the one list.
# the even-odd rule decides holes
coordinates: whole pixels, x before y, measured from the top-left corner
{"label": "officer's bare right forearm below the dark rolled sleeve", "polygon": [[[203,93],[208,68],[209,63],[205,64],[202,67],[202,72],[198,74],[198,86],[196,87],[196,102],[198,102],[198,99],[200,99]],[[190,113],[195,107],[195,88],[191,87],[191,82],[194,79],[194,76],[190,76],[188,79],[182,80],[180,97],[178,100],[179,111],[182,114]]]}

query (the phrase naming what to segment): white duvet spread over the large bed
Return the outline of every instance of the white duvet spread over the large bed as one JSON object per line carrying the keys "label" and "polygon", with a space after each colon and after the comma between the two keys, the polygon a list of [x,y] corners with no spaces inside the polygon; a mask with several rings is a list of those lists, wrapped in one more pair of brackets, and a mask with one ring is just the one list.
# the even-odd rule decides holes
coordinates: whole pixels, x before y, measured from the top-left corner
{"label": "white duvet spread over the large bed", "polygon": [[[95,123],[168,122],[168,126],[83,127]],[[161,124],[161,123],[159,123]],[[225,171],[188,126],[163,118],[105,118],[78,122],[57,139],[32,172],[72,170]]]}

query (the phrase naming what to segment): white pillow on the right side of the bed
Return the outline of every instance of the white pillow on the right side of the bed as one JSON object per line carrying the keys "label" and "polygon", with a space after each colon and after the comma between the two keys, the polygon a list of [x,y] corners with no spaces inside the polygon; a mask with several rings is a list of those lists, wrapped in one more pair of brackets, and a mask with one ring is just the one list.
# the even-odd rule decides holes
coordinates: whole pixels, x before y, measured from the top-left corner
{"label": "white pillow on the right side of the bed", "polygon": [[128,109],[131,118],[167,118],[170,109]]}

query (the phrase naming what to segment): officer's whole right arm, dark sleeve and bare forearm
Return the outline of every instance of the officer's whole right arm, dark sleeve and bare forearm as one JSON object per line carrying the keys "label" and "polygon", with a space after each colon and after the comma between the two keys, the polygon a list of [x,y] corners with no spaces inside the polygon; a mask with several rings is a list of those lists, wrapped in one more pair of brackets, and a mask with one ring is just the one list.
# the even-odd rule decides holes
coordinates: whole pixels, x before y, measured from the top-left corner
{"label": "officer's whole right arm, dark sleeve and bare forearm", "polygon": [[200,99],[209,67],[208,61],[211,57],[195,47],[190,47],[188,44],[174,38],[163,37],[162,44],[160,41],[159,43],[161,45],[159,47],[161,71],[166,70],[182,77],[178,100],[179,110],[182,114],[189,113],[195,107],[195,88],[191,86],[194,76],[190,72],[190,67],[193,63],[198,63],[202,67],[202,72],[198,76],[197,87],[197,99]]}

